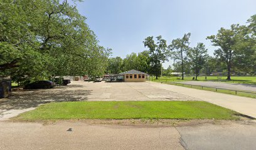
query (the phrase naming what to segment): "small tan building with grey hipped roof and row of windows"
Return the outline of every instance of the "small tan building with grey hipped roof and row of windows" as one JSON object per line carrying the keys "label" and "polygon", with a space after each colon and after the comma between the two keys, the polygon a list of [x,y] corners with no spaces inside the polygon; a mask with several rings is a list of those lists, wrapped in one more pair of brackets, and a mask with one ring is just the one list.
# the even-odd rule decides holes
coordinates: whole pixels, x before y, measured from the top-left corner
{"label": "small tan building with grey hipped roof and row of windows", "polygon": [[124,76],[124,82],[146,82],[148,74],[134,69],[120,73]]}

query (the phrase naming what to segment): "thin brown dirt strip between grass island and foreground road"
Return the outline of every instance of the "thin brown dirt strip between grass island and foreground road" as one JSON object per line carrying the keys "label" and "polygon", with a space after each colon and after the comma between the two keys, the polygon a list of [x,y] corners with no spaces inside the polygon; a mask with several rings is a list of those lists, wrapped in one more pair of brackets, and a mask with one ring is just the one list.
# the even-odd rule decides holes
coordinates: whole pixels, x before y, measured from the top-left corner
{"label": "thin brown dirt strip between grass island and foreground road", "polygon": [[[215,120],[215,119],[68,119],[68,120],[45,120],[34,121],[36,123],[43,124],[44,126],[53,125],[61,122],[70,123],[85,123],[85,124],[102,124],[102,125],[120,125],[120,126],[147,126],[147,127],[161,127],[161,126],[201,126],[205,124],[213,125],[231,125],[231,124],[243,124],[243,125],[256,125],[256,120],[241,118],[238,121],[230,120]],[[22,122],[29,123],[28,121],[15,121],[9,122]]]}

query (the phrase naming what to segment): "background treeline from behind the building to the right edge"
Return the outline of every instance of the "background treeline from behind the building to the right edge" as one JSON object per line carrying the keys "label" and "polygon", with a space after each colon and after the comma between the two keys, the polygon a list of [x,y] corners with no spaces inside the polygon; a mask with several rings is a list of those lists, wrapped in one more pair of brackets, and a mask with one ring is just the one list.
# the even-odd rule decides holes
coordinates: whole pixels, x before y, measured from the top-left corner
{"label": "background treeline from behind the building to the right edge", "polygon": [[208,55],[205,44],[198,42],[196,47],[189,46],[191,34],[173,39],[166,44],[161,36],[147,37],[143,43],[148,50],[142,53],[132,53],[122,59],[110,58],[106,73],[121,73],[130,69],[137,69],[156,76],[161,74],[161,64],[173,60],[173,68],[164,69],[164,75],[172,72],[195,75],[210,75],[223,73],[227,79],[231,74],[256,74],[256,15],[248,19],[246,25],[232,24],[230,29],[221,27],[216,35],[206,37],[216,46],[214,56]]}

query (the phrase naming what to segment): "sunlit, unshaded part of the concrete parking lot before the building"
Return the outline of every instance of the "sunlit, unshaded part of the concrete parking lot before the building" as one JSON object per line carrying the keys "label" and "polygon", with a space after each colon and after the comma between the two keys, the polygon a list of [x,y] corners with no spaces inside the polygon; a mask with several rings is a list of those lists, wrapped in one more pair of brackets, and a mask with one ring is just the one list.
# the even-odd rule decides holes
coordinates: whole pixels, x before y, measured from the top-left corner
{"label": "sunlit, unshaded part of the concrete parking lot before the building", "polygon": [[89,101],[188,101],[184,94],[152,86],[151,83],[76,83],[92,90]]}

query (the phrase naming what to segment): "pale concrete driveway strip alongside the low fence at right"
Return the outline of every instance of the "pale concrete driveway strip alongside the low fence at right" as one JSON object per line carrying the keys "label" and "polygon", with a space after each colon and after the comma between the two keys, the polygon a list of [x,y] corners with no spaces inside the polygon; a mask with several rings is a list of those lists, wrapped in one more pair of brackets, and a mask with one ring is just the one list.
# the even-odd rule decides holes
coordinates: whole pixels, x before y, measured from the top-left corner
{"label": "pale concrete driveway strip alongside the low fence at right", "polygon": [[198,100],[207,101],[209,103],[232,109],[238,113],[245,114],[256,118],[256,99],[245,98],[242,96],[233,96],[230,94],[215,93],[200,89],[184,88],[181,86],[173,86],[161,83],[149,83],[156,88],[166,89],[174,93],[183,94]]}

